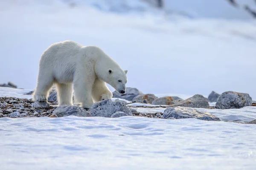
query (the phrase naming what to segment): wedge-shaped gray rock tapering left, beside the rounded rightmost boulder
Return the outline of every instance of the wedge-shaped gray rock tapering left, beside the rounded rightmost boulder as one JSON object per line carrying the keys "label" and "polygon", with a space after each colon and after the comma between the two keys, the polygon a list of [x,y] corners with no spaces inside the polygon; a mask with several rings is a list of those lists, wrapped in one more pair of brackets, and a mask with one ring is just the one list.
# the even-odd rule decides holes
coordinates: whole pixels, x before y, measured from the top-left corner
{"label": "wedge-shaped gray rock tapering left, beside the rounded rightmost boulder", "polygon": [[202,96],[201,94],[195,94],[194,96],[181,102],[177,102],[171,106],[183,106],[189,108],[209,108],[209,102],[208,99]]}

